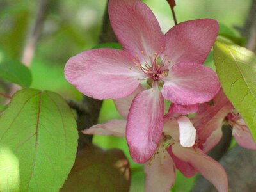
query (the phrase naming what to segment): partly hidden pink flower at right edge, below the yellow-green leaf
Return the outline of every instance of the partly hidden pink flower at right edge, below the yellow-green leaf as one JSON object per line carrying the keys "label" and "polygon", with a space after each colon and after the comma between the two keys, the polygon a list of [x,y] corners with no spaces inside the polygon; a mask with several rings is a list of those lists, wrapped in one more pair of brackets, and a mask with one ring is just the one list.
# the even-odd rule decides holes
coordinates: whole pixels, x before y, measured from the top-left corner
{"label": "partly hidden pink flower at right edge, below the yellow-green leaf", "polygon": [[237,143],[244,148],[256,150],[256,143],[242,116],[234,109],[222,88],[214,97],[214,106],[201,104],[196,116],[192,119],[198,138],[202,141],[204,152],[211,150],[222,137],[223,124],[232,126],[232,134]]}

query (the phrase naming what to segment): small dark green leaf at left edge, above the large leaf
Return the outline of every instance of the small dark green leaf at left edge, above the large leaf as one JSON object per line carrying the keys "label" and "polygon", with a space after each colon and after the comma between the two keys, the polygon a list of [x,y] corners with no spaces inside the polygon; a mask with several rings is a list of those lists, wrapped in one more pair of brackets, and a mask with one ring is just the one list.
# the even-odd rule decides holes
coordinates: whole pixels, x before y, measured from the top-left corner
{"label": "small dark green leaf at left edge, above the large leaf", "polygon": [[0,63],[0,78],[28,88],[32,81],[28,67],[19,61],[3,61]]}

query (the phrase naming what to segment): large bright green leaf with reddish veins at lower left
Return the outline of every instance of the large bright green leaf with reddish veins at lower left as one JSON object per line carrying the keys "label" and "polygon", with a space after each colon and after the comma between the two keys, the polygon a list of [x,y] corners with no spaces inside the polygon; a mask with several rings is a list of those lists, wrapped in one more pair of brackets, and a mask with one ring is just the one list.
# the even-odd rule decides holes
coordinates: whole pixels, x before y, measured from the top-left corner
{"label": "large bright green leaf with reddish veins at lower left", "polygon": [[76,148],[76,121],[65,100],[20,90],[0,116],[0,191],[58,191]]}

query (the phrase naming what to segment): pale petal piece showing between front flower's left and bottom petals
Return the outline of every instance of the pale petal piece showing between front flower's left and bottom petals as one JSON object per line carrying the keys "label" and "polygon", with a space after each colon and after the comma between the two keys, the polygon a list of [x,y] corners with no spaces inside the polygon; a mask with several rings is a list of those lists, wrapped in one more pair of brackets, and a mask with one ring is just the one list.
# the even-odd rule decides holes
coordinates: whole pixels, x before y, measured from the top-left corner
{"label": "pale petal piece showing between front flower's left and bottom petals", "polygon": [[129,109],[130,109],[131,104],[132,104],[132,100],[134,99],[134,97],[138,93],[142,92],[143,90],[145,90],[145,87],[142,84],[139,84],[138,88],[131,95],[129,95],[128,97],[114,100],[117,111],[125,119],[127,119]]}

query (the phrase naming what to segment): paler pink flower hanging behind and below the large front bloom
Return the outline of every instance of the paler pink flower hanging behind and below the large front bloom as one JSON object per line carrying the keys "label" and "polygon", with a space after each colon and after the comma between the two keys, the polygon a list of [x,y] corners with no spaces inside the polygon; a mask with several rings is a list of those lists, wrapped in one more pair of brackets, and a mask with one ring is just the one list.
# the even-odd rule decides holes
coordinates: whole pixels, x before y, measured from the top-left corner
{"label": "paler pink flower hanging behind and below the large front bloom", "polygon": [[[132,95],[134,97],[135,94]],[[115,100],[118,111],[124,116],[127,116],[125,110],[128,111],[131,106],[132,95],[125,99]],[[192,128],[191,122],[181,115],[181,112],[188,113],[196,109],[197,106],[171,106],[168,115],[164,116],[164,132],[161,134],[161,140],[157,143],[154,154],[147,159],[144,165],[145,191],[169,191],[175,183],[176,168],[186,177],[192,177],[196,172],[200,172],[214,184],[218,191],[228,191],[227,175],[218,162],[205,155],[196,145],[193,147],[180,145],[180,130],[182,130],[180,125],[184,124],[189,129],[195,129]],[[179,120],[179,118],[184,118],[184,120]],[[125,124],[125,120],[111,120],[106,124],[90,127],[83,132],[124,137]],[[189,129],[188,132],[191,132]],[[147,151],[148,148],[144,150]]]}

